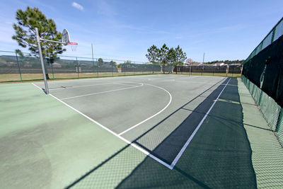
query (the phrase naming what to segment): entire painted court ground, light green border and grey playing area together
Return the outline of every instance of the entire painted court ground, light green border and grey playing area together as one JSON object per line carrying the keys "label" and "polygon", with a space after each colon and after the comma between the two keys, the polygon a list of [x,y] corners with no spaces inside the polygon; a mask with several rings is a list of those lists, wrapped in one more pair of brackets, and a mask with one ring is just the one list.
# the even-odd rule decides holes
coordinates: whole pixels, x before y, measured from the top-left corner
{"label": "entire painted court ground, light green border and grey playing area together", "polygon": [[158,74],[1,84],[0,188],[283,186],[241,79]]}

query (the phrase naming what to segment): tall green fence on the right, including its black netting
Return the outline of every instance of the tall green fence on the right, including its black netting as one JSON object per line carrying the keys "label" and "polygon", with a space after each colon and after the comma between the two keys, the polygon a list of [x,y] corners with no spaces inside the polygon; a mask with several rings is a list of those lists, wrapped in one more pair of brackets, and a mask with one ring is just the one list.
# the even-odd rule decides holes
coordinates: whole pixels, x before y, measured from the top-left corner
{"label": "tall green fence on the right, including its black netting", "polygon": [[283,18],[245,60],[242,80],[283,144]]}

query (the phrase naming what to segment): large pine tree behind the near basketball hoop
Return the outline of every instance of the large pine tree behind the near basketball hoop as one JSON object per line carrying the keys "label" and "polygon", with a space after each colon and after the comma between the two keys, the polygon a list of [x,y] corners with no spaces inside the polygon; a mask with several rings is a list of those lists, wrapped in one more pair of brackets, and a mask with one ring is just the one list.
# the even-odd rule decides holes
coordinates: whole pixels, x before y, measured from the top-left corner
{"label": "large pine tree behind the near basketball hoop", "polygon": [[[18,45],[28,48],[30,53],[37,56],[38,48],[36,42],[35,28],[38,28],[40,38],[45,40],[61,40],[62,33],[57,32],[56,24],[52,19],[46,16],[38,8],[30,8],[25,11],[18,9],[16,12],[17,23],[13,23],[13,29],[16,34],[12,36]],[[66,49],[62,48],[62,44],[54,42],[40,42],[42,48],[42,56],[54,59],[57,54],[62,54]],[[16,50],[21,53],[21,50]],[[21,54],[20,54],[21,55]]]}

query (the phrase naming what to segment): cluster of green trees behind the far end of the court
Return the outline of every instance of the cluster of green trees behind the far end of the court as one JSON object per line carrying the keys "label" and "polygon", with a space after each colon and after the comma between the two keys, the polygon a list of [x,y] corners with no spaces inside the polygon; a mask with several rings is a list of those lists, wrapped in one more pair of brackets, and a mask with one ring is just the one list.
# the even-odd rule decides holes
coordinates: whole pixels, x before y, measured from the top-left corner
{"label": "cluster of green trees behind the far end of the court", "polygon": [[183,52],[179,45],[175,48],[169,48],[164,43],[160,49],[156,47],[156,45],[152,45],[147,52],[146,58],[149,59],[149,62],[152,64],[177,66],[183,65],[183,62],[187,59],[186,53]]}

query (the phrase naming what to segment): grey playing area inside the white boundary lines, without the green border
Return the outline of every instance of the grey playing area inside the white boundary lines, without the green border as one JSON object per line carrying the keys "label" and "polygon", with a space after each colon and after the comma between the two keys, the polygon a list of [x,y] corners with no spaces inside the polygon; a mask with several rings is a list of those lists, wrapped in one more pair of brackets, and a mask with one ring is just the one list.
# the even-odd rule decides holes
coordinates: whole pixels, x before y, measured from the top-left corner
{"label": "grey playing area inside the white boundary lines, without the green border", "polygon": [[[173,168],[185,143],[228,82],[225,77],[162,74],[50,81],[49,88],[58,101]],[[173,131],[197,107],[199,111],[189,120],[190,128],[174,136]]]}

